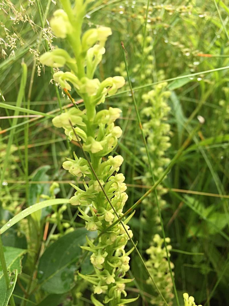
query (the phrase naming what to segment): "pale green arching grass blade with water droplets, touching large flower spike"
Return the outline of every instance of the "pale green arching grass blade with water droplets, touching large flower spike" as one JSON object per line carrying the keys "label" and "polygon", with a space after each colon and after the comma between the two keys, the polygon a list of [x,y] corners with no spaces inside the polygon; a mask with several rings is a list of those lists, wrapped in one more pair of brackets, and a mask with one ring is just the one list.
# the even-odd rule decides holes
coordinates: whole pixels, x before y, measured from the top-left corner
{"label": "pale green arching grass blade with water droplets, touching large flower spike", "polygon": [[19,222],[20,220],[24,219],[28,215],[31,215],[33,212],[38,211],[39,209],[42,209],[47,206],[51,205],[58,205],[58,204],[64,204],[68,203],[67,199],[52,199],[47,200],[43,202],[36,203],[34,205],[31,205],[30,207],[24,209],[19,214],[17,214],[15,217],[10,219],[5,225],[2,226],[0,229],[0,234],[4,233],[7,229],[9,229],[11,226]]}

